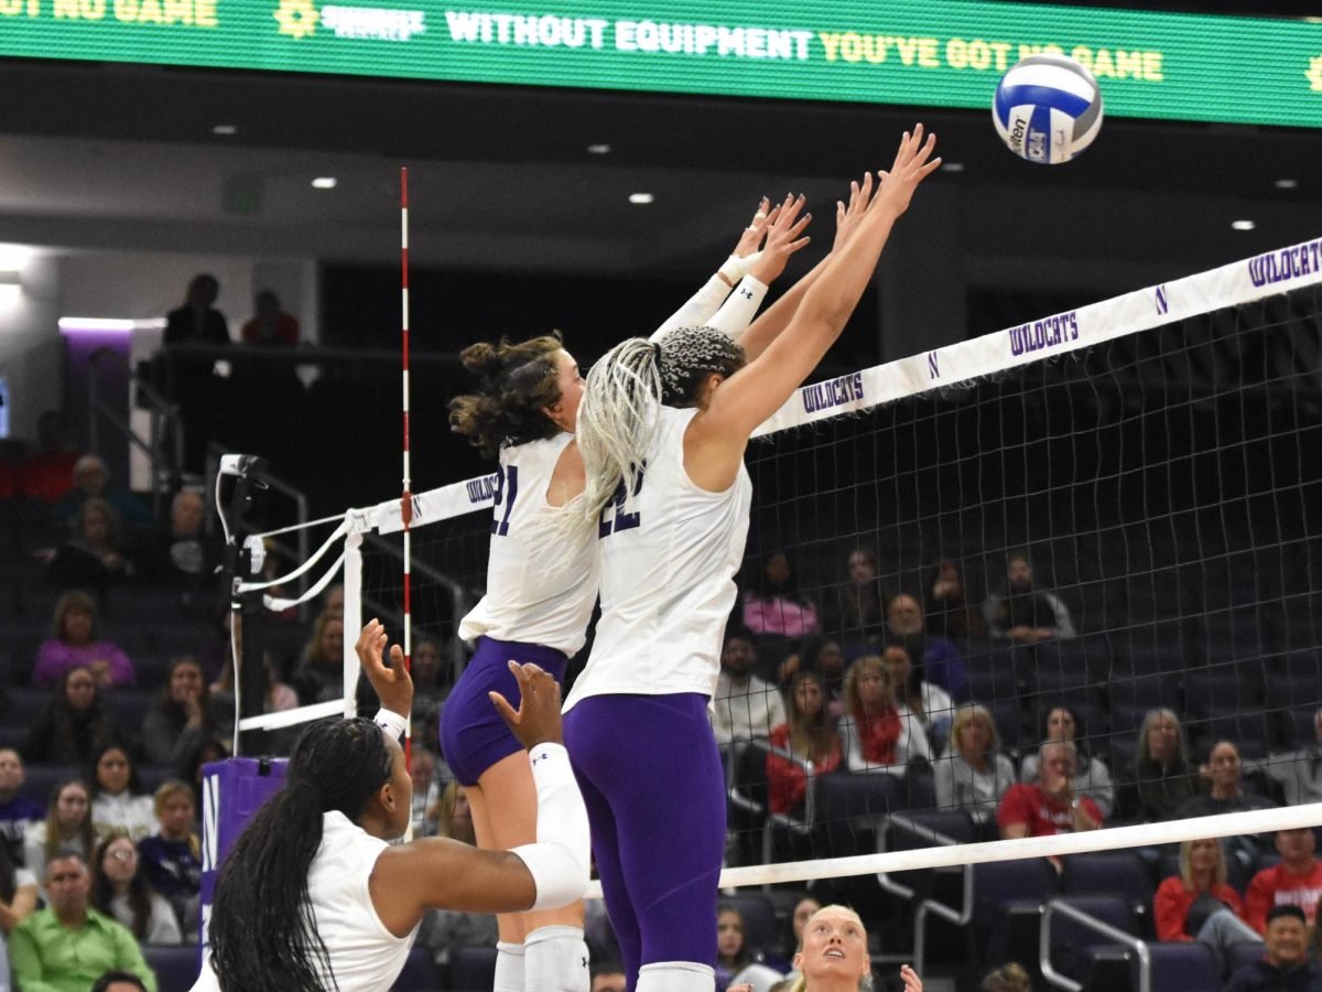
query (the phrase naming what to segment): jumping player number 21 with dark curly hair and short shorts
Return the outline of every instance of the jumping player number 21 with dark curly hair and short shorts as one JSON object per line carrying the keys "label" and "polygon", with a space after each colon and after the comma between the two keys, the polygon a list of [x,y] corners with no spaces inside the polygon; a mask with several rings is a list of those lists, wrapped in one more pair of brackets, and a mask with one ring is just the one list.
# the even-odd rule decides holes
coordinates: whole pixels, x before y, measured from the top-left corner
{"label": "jumping player number 21 with dark curly hair and short shorts", "polygon": [[[657,335],[694,321],[713,321],[732,336],[747,328],[767,291],[758,279],[756,254],[767,206],[763,201],[722,271]],[[572,435],[583,380],[558,336],[479,344],[465,349],[463,360],[481,385],[451,403],[451,422],[485,454],[498,452],[500,463],[486,594],[459,631],[476,640],[476,652],[446,701],[440,739],[468,795],[479,847],[505,848],[530,836],[533,791],[527,761],[493,717],[486,693],[516,692],[508,659],[539,664],[561,679],[568,656],[583,647],[596,602],[595,542],[562,554],[555,524],[561,508],[583,488]],[[497,988],[586,992],[582,906],[535,918],[504,915],[498,925]]]}

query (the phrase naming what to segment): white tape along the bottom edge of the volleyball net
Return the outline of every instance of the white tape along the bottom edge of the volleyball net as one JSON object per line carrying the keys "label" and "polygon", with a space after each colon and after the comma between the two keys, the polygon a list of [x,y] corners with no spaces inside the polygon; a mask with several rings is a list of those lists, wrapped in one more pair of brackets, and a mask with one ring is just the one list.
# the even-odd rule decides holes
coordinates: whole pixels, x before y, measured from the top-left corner
{"label": "white tape along the bottom edge of the volleyball net", "polygon": [[[1019,861],[1029,857],[1059,857],[1096,850],[1121,850],[1157,844],[1178,844],[1204,837],[1237,837],[1322,825],[1322,803],[1286,806],[1274,809],[1252,809],[1243,813],[1218,813],[1185,820],[1104,827],[1085,833],[1059,833],[1054,837],[989,840],[980,844],[940,845],[911,850],[888,850],[876,854],[785,861],[772,865],[727,868],[720,873],[720,888],[779,882],[808,882],[821,878],[846,878],[865,874],[890,874],[928,868],[977,865],[988,861]],[[602,898],[602,884],[588,886],[587,898]]]}

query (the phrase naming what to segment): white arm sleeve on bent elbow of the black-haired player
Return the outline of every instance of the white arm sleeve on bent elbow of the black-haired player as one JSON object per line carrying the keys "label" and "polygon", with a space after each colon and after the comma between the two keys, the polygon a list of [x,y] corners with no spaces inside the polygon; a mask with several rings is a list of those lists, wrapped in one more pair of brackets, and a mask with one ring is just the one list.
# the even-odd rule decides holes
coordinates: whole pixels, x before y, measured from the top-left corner
{"label": "white arm sleeve on bent elbow of the black-haired player", "polygon": [[587,809],[563,745],[539,743],[527,754],[537,784],[537,843],[512,848],[537,885],[531,909],[555,909],[583,898],[591,854]]}

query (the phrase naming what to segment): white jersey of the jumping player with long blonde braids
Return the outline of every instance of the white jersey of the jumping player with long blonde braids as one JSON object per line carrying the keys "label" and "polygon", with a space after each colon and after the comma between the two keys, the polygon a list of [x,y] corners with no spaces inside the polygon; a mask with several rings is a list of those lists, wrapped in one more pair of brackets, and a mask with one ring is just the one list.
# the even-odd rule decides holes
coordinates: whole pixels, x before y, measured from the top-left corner
{"label": "white jersey of the jumping player with long blonde braids", "polygon": [[715,690],[752,481],[743,466],[724,492],[689,477],[683,434],[697,413],[661,407],[633,511],[621,485],[602,516],[602,618],[566,710],[588,696]]}

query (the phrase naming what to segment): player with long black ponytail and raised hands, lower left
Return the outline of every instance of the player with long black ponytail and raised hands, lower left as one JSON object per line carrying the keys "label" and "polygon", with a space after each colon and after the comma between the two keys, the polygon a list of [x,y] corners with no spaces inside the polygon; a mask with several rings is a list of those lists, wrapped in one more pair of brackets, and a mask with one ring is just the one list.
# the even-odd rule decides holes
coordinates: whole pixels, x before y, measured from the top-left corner
{"label": "player with long black ponytail and raised hands, lower left", "polygon": [[[239,836],[221,868],[196,991],[288,992],[390,988],[428,909],[551,909],[588,881],[587,815],[559,743],[559,686],[520,668],[521,705],[502,716],[530,751],[535,843],[477,850],[444,837],[389,845],[412,812],[397,734],[412,682],[385,628],[371,620],[357,652],[382,702],[377,722],[323,721],[299,738],[284,788]],[[305,888],[304,888],[305,886]]]}

